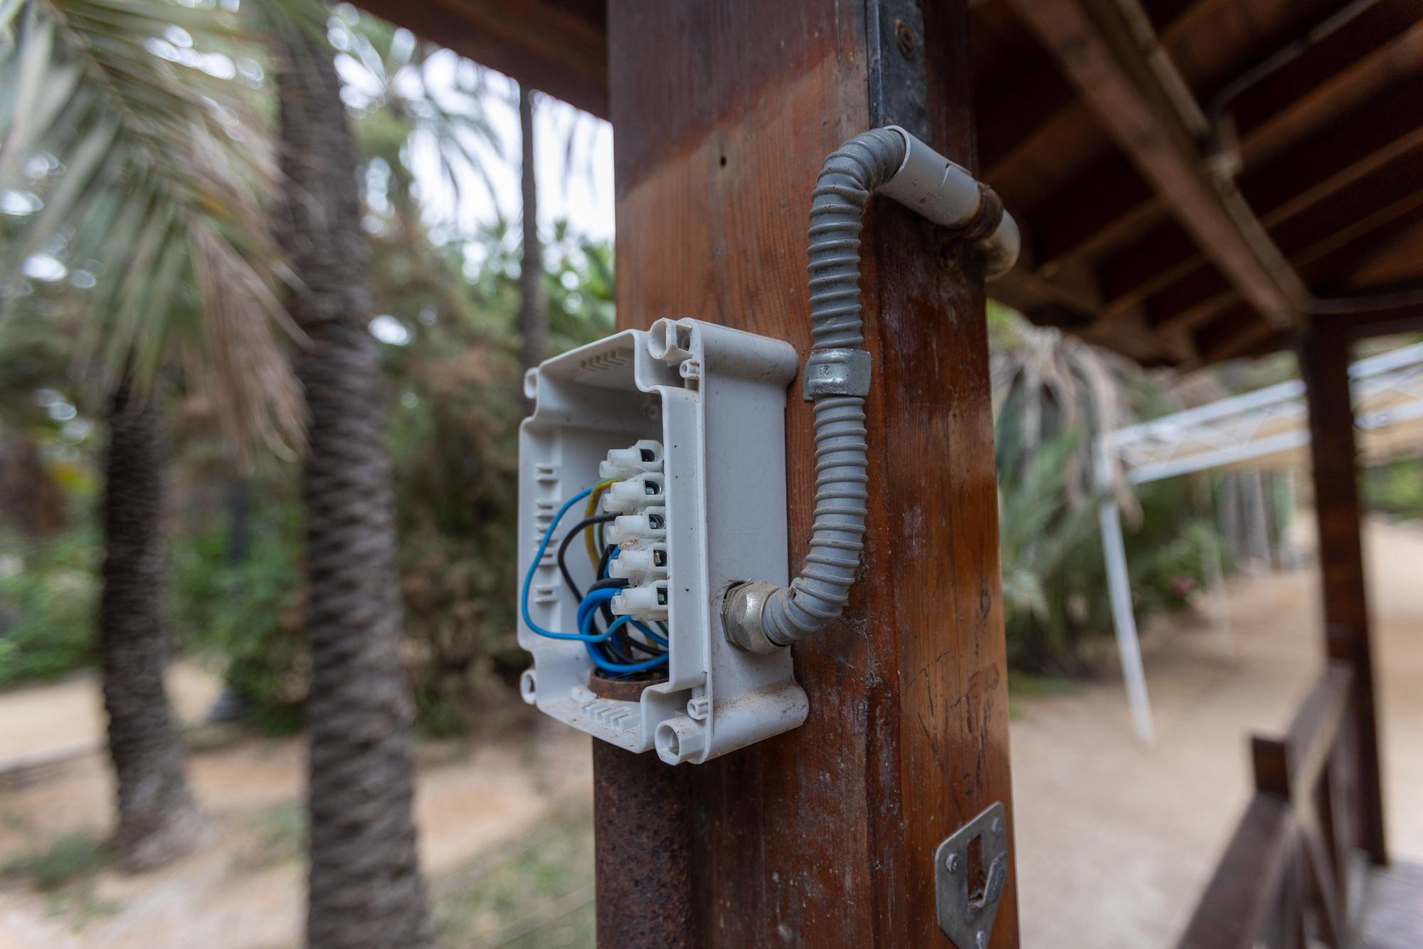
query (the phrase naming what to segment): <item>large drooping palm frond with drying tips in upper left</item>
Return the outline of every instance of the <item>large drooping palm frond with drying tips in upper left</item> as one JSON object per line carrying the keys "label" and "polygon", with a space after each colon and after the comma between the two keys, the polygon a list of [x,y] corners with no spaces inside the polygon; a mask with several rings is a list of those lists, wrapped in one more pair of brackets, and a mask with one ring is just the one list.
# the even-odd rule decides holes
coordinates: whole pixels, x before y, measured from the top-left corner
{"label": "large drooping palm frond with drying tips in upper left", "polygon": [[0,248],[7,305],[36,255],[83,269],[77,358],[101,386],[199,366],[188,382],[211,388],[245,457],[296,446],[268,204],[279,172],[256,83],[235,66],[259,37],[229,10],[171,0],[6,1],[0,33],[0,192],[41,205]]}

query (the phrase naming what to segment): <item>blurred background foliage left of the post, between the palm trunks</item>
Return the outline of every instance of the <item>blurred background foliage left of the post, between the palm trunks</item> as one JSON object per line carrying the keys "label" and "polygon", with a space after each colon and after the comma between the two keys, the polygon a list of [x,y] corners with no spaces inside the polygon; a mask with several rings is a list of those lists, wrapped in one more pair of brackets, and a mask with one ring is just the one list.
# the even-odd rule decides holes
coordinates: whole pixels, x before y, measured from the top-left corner
{"label": "blurred background foliage left of the post, between the palm trunks", "polygon": [[[472,63],[350,7],[333,11],[327,36],[340,51],[361,150],[370,329],[384,343],[391,399],[407,668],[423,728],[465,731],[491,721],[505,681],[525,664],[511,607],[525,412],[521,248],[507,221],[472,229],[433,214],[411,162],[418,150],[434,150],[457,194],[488,188],[485,162],[507,158],[481,110],[507,93],[488,87]],[[440,70],[440,81],[427,83],[427,70]],[[265,64],[249,73],[263,77]],[[0,231],[40,207],[40,198],[9,194]],[[610,332],[610,247],[562,221],[544,238],[551,348]],[[51,262],[10,294],[0,339],[0,685],[95,660],[100,406],[84,398],[83,362],[65,332],[87,318],[91,299],[61,249]],[[266,459],[243,469],[223,447],[221,406],[181,378],[169,382],[169,614],[178,647],[221,670],[258,725],[292,730],[307,688],[297,467]]]}

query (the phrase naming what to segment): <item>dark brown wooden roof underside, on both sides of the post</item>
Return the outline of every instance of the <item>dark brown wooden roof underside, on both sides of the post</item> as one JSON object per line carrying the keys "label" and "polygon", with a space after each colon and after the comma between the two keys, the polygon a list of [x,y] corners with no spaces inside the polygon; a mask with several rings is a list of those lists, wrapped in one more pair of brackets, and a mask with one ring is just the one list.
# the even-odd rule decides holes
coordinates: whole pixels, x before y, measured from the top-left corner
{"label": "dark brown wooden roof underside, on both sides of the post", "polygon": [[[606,115],[602,0],[366,0]],[[1146,365],[1423,328],[1423,0],[979,0],[993,295]]]}

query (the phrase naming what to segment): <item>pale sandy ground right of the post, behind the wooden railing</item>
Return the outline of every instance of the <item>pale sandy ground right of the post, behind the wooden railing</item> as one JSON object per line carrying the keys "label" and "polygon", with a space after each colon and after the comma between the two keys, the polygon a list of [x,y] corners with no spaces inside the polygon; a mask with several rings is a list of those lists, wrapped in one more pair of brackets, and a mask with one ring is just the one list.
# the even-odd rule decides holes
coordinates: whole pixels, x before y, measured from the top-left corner
{"label": "pale sandy ground right of the post, behind the wooden railing", "polygon": [[[1423,530],[1370,523],[1389,841],[1423,858]],[[1238,577],[1227,644],[1202,617],[1144,643],[1157,744],[1120,683],[1017,700],[1010,727],[1023,945],[1170,946],[1251,787],[1251,731],[1279,734],[1322,665],[1318,573]]]}

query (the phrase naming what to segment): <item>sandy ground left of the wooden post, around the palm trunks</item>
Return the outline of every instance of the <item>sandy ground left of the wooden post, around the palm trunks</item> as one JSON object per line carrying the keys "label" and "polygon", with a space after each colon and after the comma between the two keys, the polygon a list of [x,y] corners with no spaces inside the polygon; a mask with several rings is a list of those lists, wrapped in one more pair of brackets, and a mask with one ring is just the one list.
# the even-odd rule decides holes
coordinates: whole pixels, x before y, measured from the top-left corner
{"label": "sandy ground left of the wooden post, around the palm trunks", "polygon": [[[37,892],[33,876],[0,875],[0,949],[299,945],[305,768],[295,740],[245,738],[195,754],[191,781],[212,818],[212,842],[155,873],[95,866],[51,892]],[[551,721],[522,722],[478,747],[423,745],[416,819],[427,875],[440,881],[565,801],[586,798],[589,779],[588,740]],[[111,794],[98,754],[4,788],[0,865],[18,855],[85,859],[110,825]],[[64,858],[65,842],[81,855]]]}

